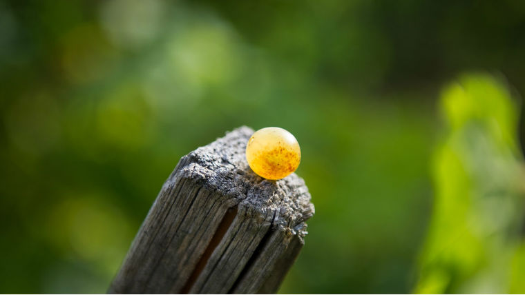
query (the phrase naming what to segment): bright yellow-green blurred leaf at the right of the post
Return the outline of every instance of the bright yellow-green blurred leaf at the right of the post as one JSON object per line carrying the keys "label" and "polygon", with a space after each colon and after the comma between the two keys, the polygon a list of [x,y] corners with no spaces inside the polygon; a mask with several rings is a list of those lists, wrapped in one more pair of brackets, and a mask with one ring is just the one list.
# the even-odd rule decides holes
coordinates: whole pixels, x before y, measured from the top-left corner
{"label": "bright yellow-green blurred leaf at the right of the post", "polygon": [[525,171],[517,107],[486,75],[443,91],[446,139],[432,165],[435,201],[419,293],[524,292]]}

